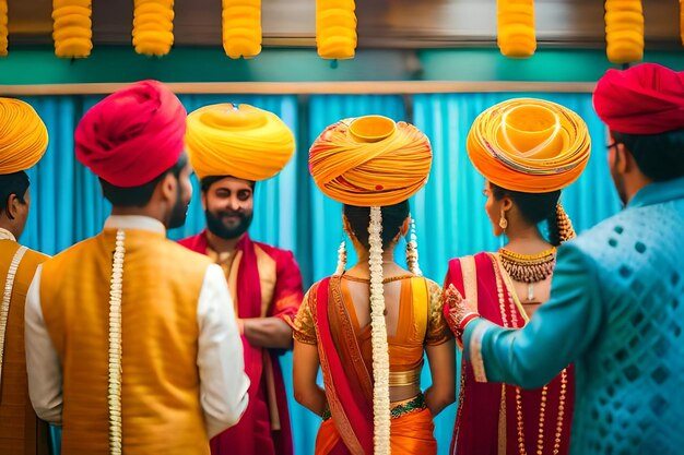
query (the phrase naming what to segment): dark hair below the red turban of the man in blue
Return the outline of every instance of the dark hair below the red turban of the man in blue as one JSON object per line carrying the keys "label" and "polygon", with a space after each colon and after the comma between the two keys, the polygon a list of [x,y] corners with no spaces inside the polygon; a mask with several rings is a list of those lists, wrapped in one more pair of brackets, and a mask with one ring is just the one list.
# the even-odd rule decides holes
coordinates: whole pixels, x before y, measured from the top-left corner
{"label": "dark hair below the red turban of the man in blue", "polygon": [[664,181],[684,177],[684,129],[660,134],[625,134],[611,131],[625,144],[646,177]]}

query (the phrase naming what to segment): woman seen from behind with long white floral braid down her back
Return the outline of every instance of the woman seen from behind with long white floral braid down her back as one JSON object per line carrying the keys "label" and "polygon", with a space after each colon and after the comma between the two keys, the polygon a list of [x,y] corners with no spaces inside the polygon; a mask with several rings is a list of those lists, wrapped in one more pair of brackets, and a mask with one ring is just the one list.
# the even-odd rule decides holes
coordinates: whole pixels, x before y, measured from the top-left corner
{"label": "woman seen from behind with long white floral braid down her back", "polygon": [[[309,289],[294,322],[295,398],[323,419],[317,455],[437,452],[433,417],[455,399],[453,342],[439,286],[420,276],[415,241],[410,271],[393,261],[409,230],[408,199],[431,164],[423,133],[378,116],[342,120],[310,149],[311,175],[344,204],[358,258],[345,271],[341,247],[338,272]],[[422,393],[424,352],[433,384]]]}

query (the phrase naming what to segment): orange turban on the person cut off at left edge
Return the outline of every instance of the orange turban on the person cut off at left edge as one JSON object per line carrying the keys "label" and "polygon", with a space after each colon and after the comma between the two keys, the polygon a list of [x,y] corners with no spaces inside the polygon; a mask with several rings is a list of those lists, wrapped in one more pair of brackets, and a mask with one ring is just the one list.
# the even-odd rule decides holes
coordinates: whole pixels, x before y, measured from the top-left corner
{"label": "orange turban on the person cut off at left edge", "polygon": [[0,175],[34,166],[47,149],[45,123],[26,103],[0,98]]}

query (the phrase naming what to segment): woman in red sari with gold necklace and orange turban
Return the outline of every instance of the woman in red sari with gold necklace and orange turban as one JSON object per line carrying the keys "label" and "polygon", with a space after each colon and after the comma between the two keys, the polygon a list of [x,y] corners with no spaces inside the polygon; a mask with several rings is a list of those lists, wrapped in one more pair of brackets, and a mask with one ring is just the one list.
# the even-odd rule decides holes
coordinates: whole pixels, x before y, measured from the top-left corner
{"label": "woman in red sari with gold necklace and orange turban", "polygon": [[[462,321],[451,311],[464,299],[472,314],[505,327],[522,327],[549,299],[556,247],[575,237],[558,203],[589,159],[589,132],[571,110],[541,99],[500,103],[481,113],[468,136],[468,154],[487,180],[485,211],[498,252],[453,259],[445,280],[445,316],[457,338]],[[538,225],[549,221],[550,238]],[[462,362],[451,453],[459,455],[566,455],[574,375],[567,367],[536,390],[481,382]]]}

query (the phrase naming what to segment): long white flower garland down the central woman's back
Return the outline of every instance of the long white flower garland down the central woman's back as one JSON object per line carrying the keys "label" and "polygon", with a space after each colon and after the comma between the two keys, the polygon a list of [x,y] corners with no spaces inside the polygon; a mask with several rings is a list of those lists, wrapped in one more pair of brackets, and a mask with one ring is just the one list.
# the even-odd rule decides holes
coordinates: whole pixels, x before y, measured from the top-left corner
{"label": "long white flower garland down the central woman's back", "polygon": [[389,348],[385,323],[382,285],[382,212],[370,207],[368,243],[370,244],[370,336],[373,344],[373,422],[374,454],[390,454]]}

